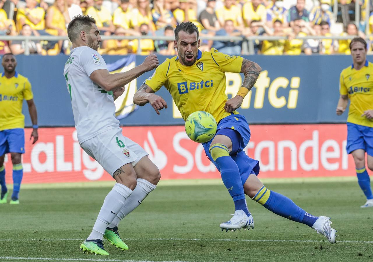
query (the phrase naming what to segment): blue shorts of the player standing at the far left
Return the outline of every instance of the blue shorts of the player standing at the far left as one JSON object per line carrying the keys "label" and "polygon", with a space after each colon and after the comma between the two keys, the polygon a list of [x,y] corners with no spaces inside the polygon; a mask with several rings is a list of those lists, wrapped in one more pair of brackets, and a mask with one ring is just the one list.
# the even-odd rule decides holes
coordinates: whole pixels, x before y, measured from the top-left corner
{"label": "blue shorts of the player standing at the far left", "polygon": [[25,130],[23,128],[0,131],[0,155],[25,153]]}

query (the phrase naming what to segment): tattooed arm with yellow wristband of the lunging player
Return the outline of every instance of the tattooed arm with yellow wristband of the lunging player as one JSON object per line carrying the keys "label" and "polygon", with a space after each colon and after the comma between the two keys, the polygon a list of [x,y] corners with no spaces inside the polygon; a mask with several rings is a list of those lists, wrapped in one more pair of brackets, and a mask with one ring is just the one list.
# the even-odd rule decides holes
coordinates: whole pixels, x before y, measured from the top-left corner
{"label": "tattooed arm with yellow wristband of the lunging player", "polygon": [[244,73],[245,78],[242,87],[239,89],[237,95],[226,101],[224,109],[227,112],[233,112],[239,108],[244,100],[245,95],[253,88],[258,76],[261,72],[261,67],[250,60],[244,59],[242,61],[241,73]]}

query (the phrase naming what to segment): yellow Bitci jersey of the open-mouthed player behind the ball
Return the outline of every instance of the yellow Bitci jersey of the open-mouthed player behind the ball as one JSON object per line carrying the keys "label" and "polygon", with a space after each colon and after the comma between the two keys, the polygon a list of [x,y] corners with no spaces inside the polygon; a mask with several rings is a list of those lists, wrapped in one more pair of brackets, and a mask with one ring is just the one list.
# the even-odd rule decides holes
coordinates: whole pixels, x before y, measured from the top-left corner
{"label": "yellow Bitci jersey of the open-mouthed player behind the ball", "polygon": [[198,50],[192,66],[183,66],[178,56],[166,59],[145,84],[154,92],[165,86],[184,120],[195,111],[206,111],[219,122],[231,114],[224,110],[228,100],[225,72],[239,73],[242,61],[240,56],[219,53],[215,48]]}

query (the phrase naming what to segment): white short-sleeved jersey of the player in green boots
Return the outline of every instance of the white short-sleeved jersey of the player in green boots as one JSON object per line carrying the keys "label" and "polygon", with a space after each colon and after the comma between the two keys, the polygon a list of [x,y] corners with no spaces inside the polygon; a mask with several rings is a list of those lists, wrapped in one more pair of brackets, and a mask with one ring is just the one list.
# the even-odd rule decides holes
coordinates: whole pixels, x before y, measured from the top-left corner
{"label": "white short-sleeved jersey of the player in green boots", "polygon": [[113,92],[105,91],[90,79],[91,73],[99,69],[107,70],[104,59],[92,48],[81,46],[71,50],[63,71],[80,144],[119,128]]}

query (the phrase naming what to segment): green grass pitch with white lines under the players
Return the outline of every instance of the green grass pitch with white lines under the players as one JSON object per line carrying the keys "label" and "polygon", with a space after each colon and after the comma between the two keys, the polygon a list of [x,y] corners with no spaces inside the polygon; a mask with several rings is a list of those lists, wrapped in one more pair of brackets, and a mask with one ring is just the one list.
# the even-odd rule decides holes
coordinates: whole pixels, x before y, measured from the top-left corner
{"label": "green grass pitch with white lines under the players", "polygon": [[160,183],[120,223],[128,251],[104,241],[110,256],[87,255],[79,245],[111,187],[24,186],[21,205],[0,205],[0,261],[373,261],[373,208],[360,208],[365,199],[356,181],[266,185],[310,214],[330,216],[338,243],[250,199],[255,229],[222,232],[234,206],[221,182]]}

